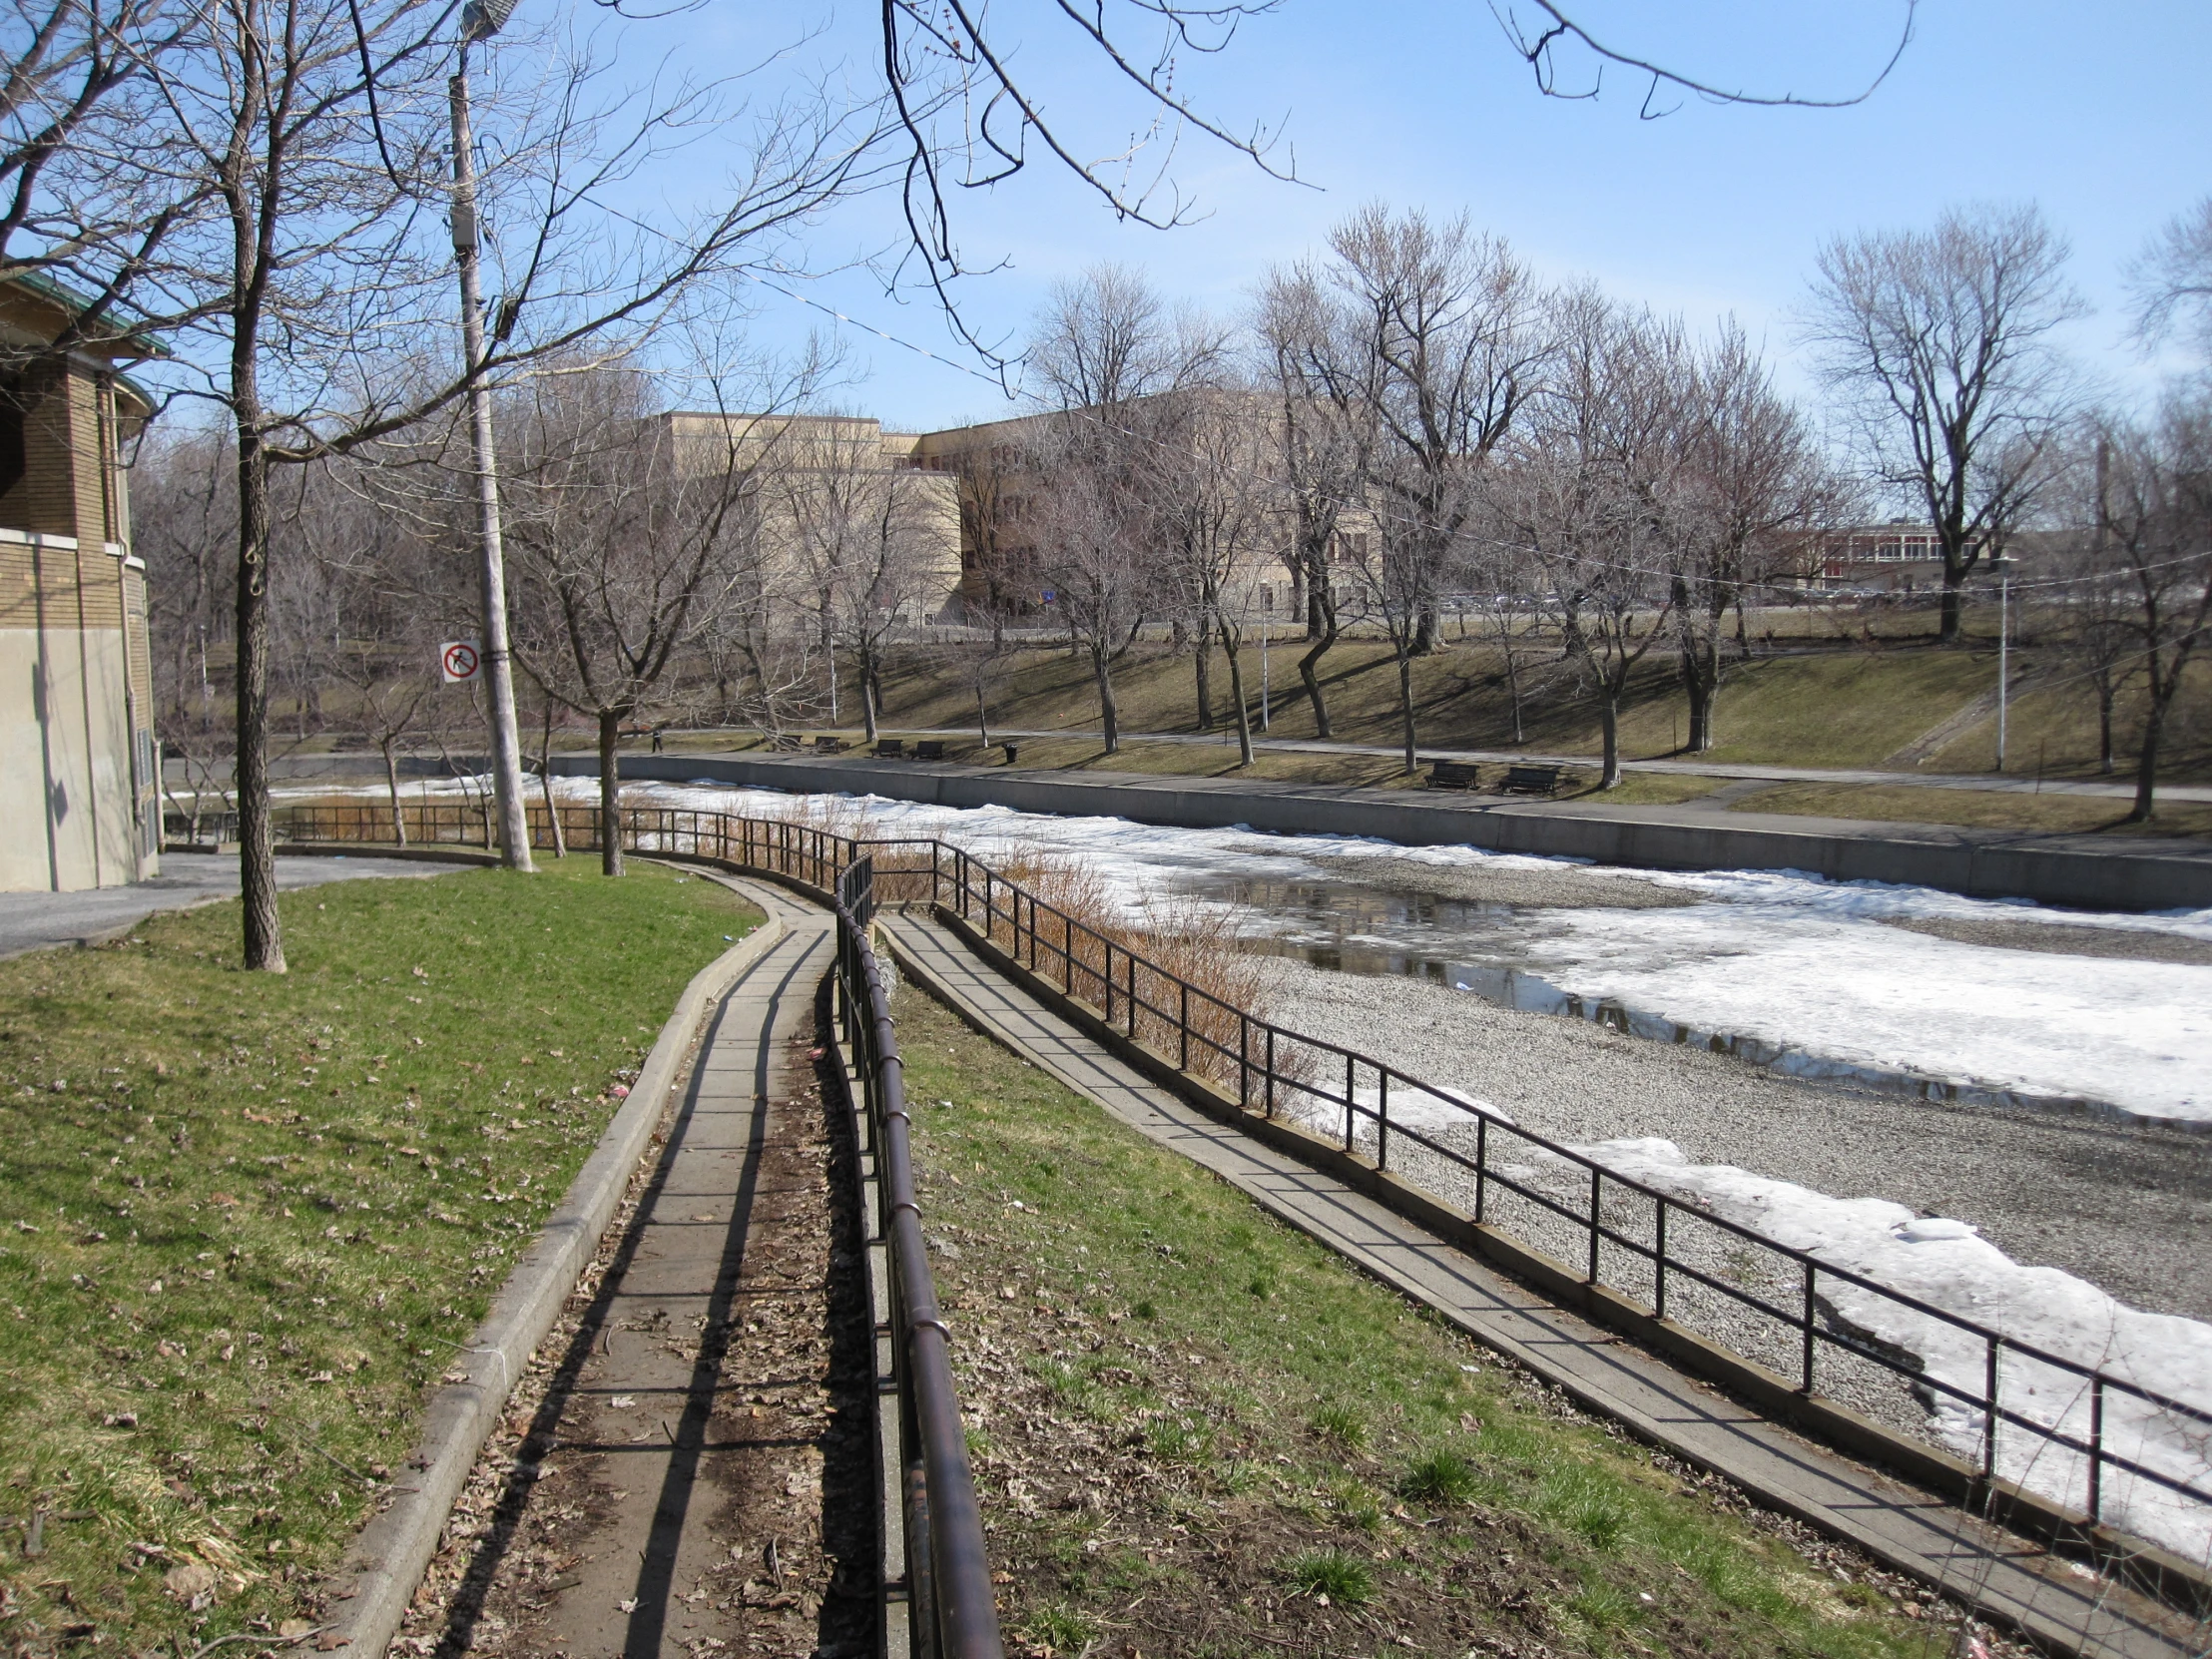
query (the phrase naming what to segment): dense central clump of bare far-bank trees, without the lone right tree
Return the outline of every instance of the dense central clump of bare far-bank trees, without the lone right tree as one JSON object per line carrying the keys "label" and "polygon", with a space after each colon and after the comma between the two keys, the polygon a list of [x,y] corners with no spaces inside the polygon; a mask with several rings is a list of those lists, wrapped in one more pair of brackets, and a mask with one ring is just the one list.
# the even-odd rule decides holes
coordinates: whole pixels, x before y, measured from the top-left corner
{"label": "dense central clump of bare far-bank trees, without the lone right tree", "polygon": [[1031,367],[1053,405],[1020,460],[1042,522],[1020,553],[982,551],[1031,560],[1022,580],[1091,661],[1108,752],[1113,666],[1155,622],[1192,646],[1201,726],[1221,648],[1250,759],[1243,641],[1261,591],[1290,588],[1318,734],[1327,653],[1380,630],[1409,770],[1413,661],[1444,606],[1482,608],[1515,721],[1548,615],[1604,710],[1610,783],[1637,664],[1674,653],[1692,748],[1710,748],[1730,615],[1796,573],[1851,495],[1741,330],[1697,343],[1588,285],[1546,288],[1467,219],[1367,208],[1272,272],[1241,327],[1095,270],[1042,316]]}

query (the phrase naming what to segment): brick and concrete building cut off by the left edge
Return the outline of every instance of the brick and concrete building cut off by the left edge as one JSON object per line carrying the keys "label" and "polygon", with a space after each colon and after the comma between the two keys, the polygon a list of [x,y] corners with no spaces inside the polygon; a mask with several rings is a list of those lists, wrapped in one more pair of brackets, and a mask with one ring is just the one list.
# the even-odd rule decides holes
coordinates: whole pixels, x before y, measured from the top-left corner
{"label": "brick and concrete building cut off by the left edge", "polygon": [[77,307],[0,281],[0,891],[153,876],[161,856],[146,566],[131,553],[126,438],[150,403],[115,361],[51,345]]}

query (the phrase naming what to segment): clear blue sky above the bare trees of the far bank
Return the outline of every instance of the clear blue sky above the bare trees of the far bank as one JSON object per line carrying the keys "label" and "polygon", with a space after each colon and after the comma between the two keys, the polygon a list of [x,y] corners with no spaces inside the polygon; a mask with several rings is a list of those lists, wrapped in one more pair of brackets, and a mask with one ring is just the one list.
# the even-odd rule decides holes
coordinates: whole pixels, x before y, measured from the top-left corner
{"label": "clear blue sky above the bare trees of the far bank", "polygon": [[[721,0],[719,0],[721,2]],[[730,13],[688,24],[728,38]],[[993,11],[1000,40],[1091,153],[1119,148],[1141,119],[1102,86],[1040,0]],[[1641,55],[1754,91],[1836,95],[1880,69],[1905,22],[1900,0],[1584,0],[1593,31]],[[863,9],[836,15],[814,51],[865,51]],[[2073,276],[2095,316],[2070,345],[2117,396],[2141,396],[2161,367],[2121,338],[2119,268],[2168,217],[2212,190],[2212,7],[2203,0],[1922,0],[1913,42],[1871,100],[1843,111],[1679,102],[1639,119],[1644,86],[1606,73],[1595,102],[1537,95],[1482,0],[1356,4],[1285,0],[1243,27],[1221,55],[1192,60],[1181,84],[1228,126],[1279,126],[1303,184],[1186,137],[1175,177],[1203,215],[1179,230],[1117,223],[1046,166],[958,199],[973,263],[973,325],[1018,334],[1051,283],[1113,259],[1144,268],[1172,296],[1234,312],[1274,261],[1314,250],[1369,199],[1438,215],[1469,210],[1540,272],[1595,276],[1613,294],[1692,323],[1739,316],[1783,383],[1812,385],[1792,343],[1792,307],[1823,239],[1918,226],[1951,201],[2035,199],[2073,241]],[[1564,60],[1568,77],[1577,64]],[[1586,66],[1582,66],[1586,69]],[[858,71],[856,71],[858,73]],[[865,201],[816,228],[818,263],[894,239],[889,204]],[[860,272],[807,285],[830,305],[960,358],[922,301],[885,296]],[[761,292],[757,330],[772,341],[834,327],[821,312]],[[852,385],[841,403],[887,425],[942,427],[1006,405],[984,383],[872,334],[843,330]]]}

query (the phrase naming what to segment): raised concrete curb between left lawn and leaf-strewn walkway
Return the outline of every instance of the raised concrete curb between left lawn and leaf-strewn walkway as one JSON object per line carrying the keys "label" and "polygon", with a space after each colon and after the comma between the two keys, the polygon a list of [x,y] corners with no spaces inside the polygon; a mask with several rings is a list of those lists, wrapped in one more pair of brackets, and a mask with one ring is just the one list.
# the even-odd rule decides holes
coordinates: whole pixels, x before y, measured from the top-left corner
{"label": "raised concrete curb between left lawn and leaf-strewn walkway", "polygon": [[538,1343],[553,1329],[577,1274],[597,1250],[599,1234],[668,1106],[668,1091],[681,1079],[699,1026],[712,1004],[783,942],[787,931],[781,920],[761,922],[741,945],[708,962],[684,987],[675,1013],[668,1015],[637,1073],[628,1102],[599,1135],[562,1206],[540,1228],[538,1241],[515,1263],[484,1323],[476,1327],[465,1349],[467,1380],[431,1394],[422,1440],[407,1460],[414,1484],[394,1486],[392,1502],[347,1548],[330,1579],[332,1615],[319,1646],[345,1646],[352,1659],[383,1659],[392,1646],[407,1604],[438,1551],[447,1515],[469,1480],[469,1469],[476,1467],[476,1453],[482,1451],[507,1407],[507,1394],[520,1380]]}

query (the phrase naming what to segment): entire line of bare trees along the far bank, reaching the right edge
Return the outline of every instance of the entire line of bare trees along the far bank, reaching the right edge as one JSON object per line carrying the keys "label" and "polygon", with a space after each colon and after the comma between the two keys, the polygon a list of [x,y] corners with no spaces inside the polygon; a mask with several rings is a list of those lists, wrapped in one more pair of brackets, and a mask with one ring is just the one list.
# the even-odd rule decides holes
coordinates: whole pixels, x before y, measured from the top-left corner
{"label": "entire line of bare trees along the far bank, reaching the right edge", "polygon": [[[2208,212],[2139,265],[2143,319],[2190,338],[2212,292]],[[1051,595],[1091,664],[1108,752],[1115,664],[1144,624],[1190,646],[1201,728],[1219,646],[1250,759],[1241,646],[1265,617],[1254,595],[1287,584],[1316,732],[1332,737],[1329,650],[1347,628],[1378,633],[1409,770],[1413,664],[1449,604],[1495,648],[1515,741],[1531,670],[1582,684],[1610,787],[1639,670],[1670,661],[1686,748],[1714,748],[1747,611],[1803,595],[1832,531],[1902,509],[1936,533],[1940,644],[1964,639],[1986,562],[2057,555],[2037,560],[2024,595],[2084,661],[2108,770],[2121,695],[2139,710],[2148,816],[2161,730],[2203,635],[2203,531],[2185,513],[2201,389],[2179,385],[2150,422],[2099,409],[2059,349],[2081,314],[2066,259],[2033,208],[1834,241],[1801,319],[1827,392],[1818,427],[1734,323],[1701,338],[1586,283],[1544,285],[1464,217],[1365,208],[1325,252],[1270,272],[1237,323],[1099,268],[1033,332],[1051,409],[1031,422],[1040,436],[969,480],[978,520],[1002,518],[984,493],[1009,476],[1044,504],[1022,538],[1004,524],[971,538],[980,588],[993,606]],[[2137,491],[2126,511],[2121,487]],[[2154,560],[2130,551],[2152,544]],[[1537,624],[1555,646],[1537,648]]]}

